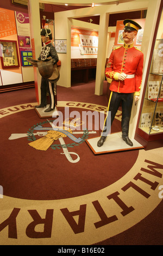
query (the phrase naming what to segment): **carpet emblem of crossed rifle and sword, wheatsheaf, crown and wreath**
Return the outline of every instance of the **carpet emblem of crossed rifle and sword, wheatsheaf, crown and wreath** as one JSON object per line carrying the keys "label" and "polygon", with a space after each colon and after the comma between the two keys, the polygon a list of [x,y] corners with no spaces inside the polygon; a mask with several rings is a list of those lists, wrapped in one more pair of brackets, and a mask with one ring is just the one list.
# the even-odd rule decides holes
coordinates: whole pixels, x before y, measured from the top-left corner
{"label": "carpet emblem of crossed rifle and sword, wheatsheaf, crown and wreath", "polygon": [[[48,123],[51,125],[50,127],[43,126]],[[63,122],[62,127],[56,127],[53,125],[53,120],[47,120],[33,125],[27,133],[12,133],[9,139],[27,137],[27,140],[30,141],[28,145],[36,150],[62,149],[64,152],[61,154],[64,154],[69,162],[77,163],[80,160],[79,155],[72,151],[69,152],[68,148],[73,148],[85,142],[85,139],[89,136],[89,131],[87,129],[84,131],[73,131],[70,127],[76,128],[82,126],[83,123],[80,118],[67,118]],[[90,133],[96,133],[96,131],[91,131]],[[77,137],[79,134],[82,135],[81,138]],[[36,138],[37,136],[41,138]],[[64,141],[66,137],[70,138],[73,142],[66,144]],[[59,140],[60,144],[55,144],[57,140]],[[76,159],[72,159],[71,155],[76,155]]]}

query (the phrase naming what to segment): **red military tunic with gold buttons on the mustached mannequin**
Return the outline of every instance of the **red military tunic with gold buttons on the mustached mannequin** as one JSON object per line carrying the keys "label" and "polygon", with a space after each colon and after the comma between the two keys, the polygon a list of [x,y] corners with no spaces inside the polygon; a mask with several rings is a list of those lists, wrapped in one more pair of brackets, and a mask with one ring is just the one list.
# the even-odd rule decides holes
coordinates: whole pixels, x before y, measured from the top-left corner
{"label": "red military tunic with gold buttons on the mustached mannequin", "polygon": [[[115,48],[110,54],[105,69],[106,78],[112,79],[110,90],[118,93],[135,93],[140,95],[143,70],[143,53],[133,44]],[[133,78],[118,80],[118,74],[133,75]],[[135,75],[135,77],[134,77]]]}

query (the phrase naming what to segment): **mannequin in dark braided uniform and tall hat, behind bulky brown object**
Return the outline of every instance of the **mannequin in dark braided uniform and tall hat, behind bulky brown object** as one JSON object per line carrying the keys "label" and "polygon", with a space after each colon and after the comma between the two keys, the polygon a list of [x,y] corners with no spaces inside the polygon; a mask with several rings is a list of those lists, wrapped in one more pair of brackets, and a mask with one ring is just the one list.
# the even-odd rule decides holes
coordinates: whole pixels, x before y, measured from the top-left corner
{"label": "mannequin in dark braided uniform and tall hat, behind bulky brown object", "polygon": [[[58,54],[55,50],[55,47],[51,43],[52,33],[49,28],[41,29],[41,39],[43,42],[43,46],[41,48],[41,53],[38,60],[45,60],[48,57],[52,57],[53,65],[58,62]],[[54,83],[48,81],[47,78],[41,78],[41,103],[39,106],[35,106],[36,108],[46,107],[47,105],[47,91],[50,97],[50,105],[45,110],[45,112],[50,112],[55,108],[55,95],[54,95]]]}

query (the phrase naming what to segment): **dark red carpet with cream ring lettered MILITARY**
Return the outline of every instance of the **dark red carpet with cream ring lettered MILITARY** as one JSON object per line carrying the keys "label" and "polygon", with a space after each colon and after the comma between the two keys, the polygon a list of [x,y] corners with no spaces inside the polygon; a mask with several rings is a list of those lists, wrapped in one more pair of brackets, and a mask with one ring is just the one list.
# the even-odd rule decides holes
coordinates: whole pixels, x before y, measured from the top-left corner
{"label": "dark red carpet with cream ring lettered MILITARY", "polygon": [[[58,86],[58,110],[82,117],[106,109],[106,86],[102,96],[94,81]],[[0,104],[1,245],[162,245],[163,148],[94,155],[85,139],[100,136],[97,123],[84,132],[80,118],[73,135],[82,143],[59,135],[39,150],[47,137],[34,128],[51,123],[33,108],[35,89],[2,93]],[[121,131],[120,113],[111,132]]]}

